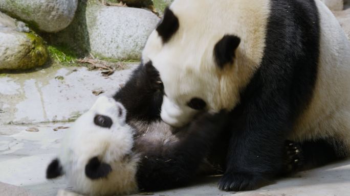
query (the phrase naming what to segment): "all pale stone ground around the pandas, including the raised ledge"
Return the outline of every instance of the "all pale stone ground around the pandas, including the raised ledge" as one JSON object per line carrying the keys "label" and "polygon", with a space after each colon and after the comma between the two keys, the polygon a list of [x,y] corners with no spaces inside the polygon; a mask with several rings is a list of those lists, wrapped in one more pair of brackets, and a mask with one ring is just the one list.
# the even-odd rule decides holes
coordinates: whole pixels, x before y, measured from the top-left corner
{"label": "all pale stone ground around the pandas, including the raised ledge", "polygon": [[[67,131],[54,128],[69,127],[96,100],[93,90],[114,93],[130,71],[117,71],[106,78],[85,67],[52,66],[26,74],[0,75],[0,182],[24,188],[31,195],[53,196],[60,189],[60,195],[72,195],[64,179],[45,179],[46,167]],[[38,131],[26,131],[33,127]],[[350,160],[304,171],[256,191],[220,191],[216,188],[219,178],[207,177],[154,195],[350,195]],[[4,195],[2,190],[0,186],[0,195]]]}

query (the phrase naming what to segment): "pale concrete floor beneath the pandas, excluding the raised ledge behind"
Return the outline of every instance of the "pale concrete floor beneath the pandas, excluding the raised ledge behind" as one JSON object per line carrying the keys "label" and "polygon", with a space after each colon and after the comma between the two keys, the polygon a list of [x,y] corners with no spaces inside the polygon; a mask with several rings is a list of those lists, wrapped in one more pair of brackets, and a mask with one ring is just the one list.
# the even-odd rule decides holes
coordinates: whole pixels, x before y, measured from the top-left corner
{"label": "pale concrete floor beneath the pandas, excluding the raised ledge behind", "polygon": [[[33,125],[30,125],[33,126]],[[29,125],[0,127],[0,181],[27,189],[32,195],[54,196],[59,189],[69,191],[64,178],[46,180],[45,170],[55,157],[61,137],[69,123],[35,124],[38,132],[28,132]],[[9,128],[13,134],[9,134]],[[4,134],[3,134],[4,133]],[[256,191],[223,192],[216,188],[220,177],[206,177],[184,188],[154,192],[154,195],[350,195],[350,160],[303,171]],[[1,193],[0,193],[1,195]],[[69,195],[66,194],[65,195]],[[138,194],[135,194],[135,196]]]}

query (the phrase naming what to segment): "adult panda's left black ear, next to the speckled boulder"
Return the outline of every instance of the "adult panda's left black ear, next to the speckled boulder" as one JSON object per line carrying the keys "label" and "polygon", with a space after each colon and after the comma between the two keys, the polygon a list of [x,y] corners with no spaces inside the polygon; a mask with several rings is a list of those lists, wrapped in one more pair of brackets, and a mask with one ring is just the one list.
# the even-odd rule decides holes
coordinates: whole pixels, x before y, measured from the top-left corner
{"label": "adult panda's left black ear, next to the speckled boulder", "polygon": [[164,17],[157,27],[157,32],[161,36],[163,43],[170,40],[171,36],[174,35],[180,27],[179,19],[169,9],[166,8],[164,11]]}

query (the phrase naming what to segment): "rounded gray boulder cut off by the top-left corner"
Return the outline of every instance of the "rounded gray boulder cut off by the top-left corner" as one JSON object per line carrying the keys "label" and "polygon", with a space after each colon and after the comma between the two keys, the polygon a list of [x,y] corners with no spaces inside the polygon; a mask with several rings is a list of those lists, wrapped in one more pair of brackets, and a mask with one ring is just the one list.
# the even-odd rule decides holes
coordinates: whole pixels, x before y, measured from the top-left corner
{"label": "rounded gray boulder cut off by the top-left corner", "polygon": [[0,0],[0,10],[46,32],[66,28],[73,20],[78,0]]}

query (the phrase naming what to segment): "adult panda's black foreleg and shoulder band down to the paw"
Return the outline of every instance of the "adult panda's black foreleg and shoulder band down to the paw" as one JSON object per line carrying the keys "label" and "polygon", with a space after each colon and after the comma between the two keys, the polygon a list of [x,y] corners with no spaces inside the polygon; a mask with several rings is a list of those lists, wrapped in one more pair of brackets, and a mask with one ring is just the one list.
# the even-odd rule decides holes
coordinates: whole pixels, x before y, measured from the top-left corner
{"label": "adult panda's black foreleg and shoulder band down to the paw", "polygon": [[283,170],[285,140],[312,100],[320,54],[315,1],[269,1],[264,56],[232,112],[224,190],[250,190]]}

